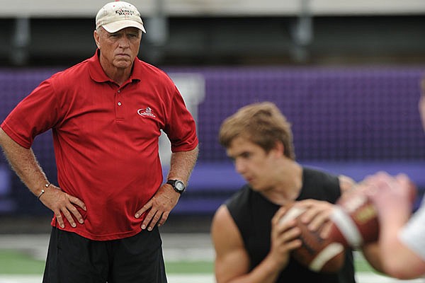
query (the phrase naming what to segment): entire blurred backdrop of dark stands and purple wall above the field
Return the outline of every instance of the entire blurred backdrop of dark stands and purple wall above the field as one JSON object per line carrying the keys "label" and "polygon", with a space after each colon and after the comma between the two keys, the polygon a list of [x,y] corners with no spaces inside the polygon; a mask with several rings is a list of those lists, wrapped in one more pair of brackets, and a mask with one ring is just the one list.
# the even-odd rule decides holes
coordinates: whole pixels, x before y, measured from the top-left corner
{"label": "entire blurred backdrop of dark stands and purple wall above the field", "polygon": [[[0,121],[38,84],[91,57],[107,1],[0,0]],[[140,59],[164,69],[196,117],[200,156],[165,232],[208,233],[244,182],[217,142],[222,120],[275,102],[292,122],[297,160],[361,180],[407,173],[425,190],[417,102],[425,76],[424,0],[135,0]],[[169,146],[161,139],[164,172]],[[57,183],[50,132],[35,154]],[[0,158],[0,232],[45,233],[51,213]]]}

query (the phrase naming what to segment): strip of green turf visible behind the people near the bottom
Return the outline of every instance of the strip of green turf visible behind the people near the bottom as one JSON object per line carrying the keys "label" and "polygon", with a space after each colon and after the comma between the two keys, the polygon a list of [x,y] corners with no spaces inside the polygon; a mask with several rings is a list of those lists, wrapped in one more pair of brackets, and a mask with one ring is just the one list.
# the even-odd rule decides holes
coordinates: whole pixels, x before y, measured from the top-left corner
{"label": "strip of green turf visible behind the people near the bottom", "polygon": [[[19,250],[0,250],[0,274],[42,274],[45,261],[35,260],[31,255]],[[213,263],[210,261],[165,262],[169,274],[212,274]],[[372,267],[360,254],[355,257],[356,271],[374,272]]]}

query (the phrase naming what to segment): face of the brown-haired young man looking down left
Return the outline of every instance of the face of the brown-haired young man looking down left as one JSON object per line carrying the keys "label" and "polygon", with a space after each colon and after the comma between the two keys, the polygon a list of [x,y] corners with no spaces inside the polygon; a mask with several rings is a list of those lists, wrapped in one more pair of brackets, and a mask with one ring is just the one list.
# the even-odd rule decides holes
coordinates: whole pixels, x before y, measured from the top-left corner
{"label": "face of the brown-haired young man looking down left", "polygon": [[235,138],[227,148],[227,156],[234,161],[236,171],[254,190],[263,191],[273,186],[276,156],[244,137]]}

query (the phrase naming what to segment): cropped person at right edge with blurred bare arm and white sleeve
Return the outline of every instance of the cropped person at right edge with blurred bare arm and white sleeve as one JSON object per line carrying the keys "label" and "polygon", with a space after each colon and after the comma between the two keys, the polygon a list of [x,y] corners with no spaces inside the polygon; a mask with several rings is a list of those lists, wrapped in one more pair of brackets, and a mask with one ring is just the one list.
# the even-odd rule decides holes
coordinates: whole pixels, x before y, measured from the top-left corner
{"label": "cropped person at right edge with blurred bare arm and white sleeve", "polygon": [[[421,81],[422,95],[419,112],[425,129],[425,79]],[[371,194],[380,218],[379,260],[382,271],[399,279],[425,275],[425,203],[411,216],[412,200],[406,175],[392,177],[380,172],[363,181]]]}

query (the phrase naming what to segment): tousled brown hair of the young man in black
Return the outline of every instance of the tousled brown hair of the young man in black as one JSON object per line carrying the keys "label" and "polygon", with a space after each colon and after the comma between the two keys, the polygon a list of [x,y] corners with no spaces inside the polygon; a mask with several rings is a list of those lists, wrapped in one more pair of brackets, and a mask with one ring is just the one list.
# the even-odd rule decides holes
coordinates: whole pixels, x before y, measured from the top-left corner
{"label": "tousled brown hair of the young man in black", "polygon": [[281,142],[284,154],[295,160],[290,123],[274,103],[253,103],[240,108],[222,122],[219,141],[228,148],[236,137],[244,137],[269,152]]}

